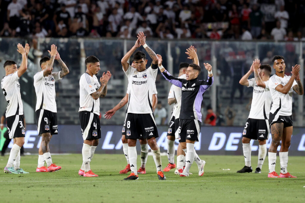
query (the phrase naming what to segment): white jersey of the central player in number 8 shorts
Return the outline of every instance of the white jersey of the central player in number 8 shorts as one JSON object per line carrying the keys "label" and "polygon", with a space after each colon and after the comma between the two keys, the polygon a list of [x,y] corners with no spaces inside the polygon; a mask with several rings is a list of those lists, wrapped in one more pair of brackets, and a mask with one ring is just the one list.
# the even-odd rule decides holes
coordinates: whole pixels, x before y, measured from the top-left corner
{"label": "white jersey of the central player in number 8 shorts", "polygon": [[[123,69],[124,70],[124,69]],[[125,72],[125,71],[124,71]],[[151,67],[142,72],[132,68],[130,65],[125,72],[128,77],[129,98],[127,113],[152,114],[152,94],[156,84],[158,68]]]}

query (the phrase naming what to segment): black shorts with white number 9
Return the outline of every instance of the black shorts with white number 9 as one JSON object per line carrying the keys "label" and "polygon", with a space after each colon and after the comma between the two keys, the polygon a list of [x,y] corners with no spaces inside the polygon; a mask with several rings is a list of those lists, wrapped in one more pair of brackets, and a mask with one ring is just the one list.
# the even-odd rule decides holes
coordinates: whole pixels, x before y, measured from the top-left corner
{"label": "black shorts with white number 9", "polygon": [[58,134],[57,113],[39,109],[36,111],[36,123],[39,136],[41,136],[42,133],[47,132],[51,133],[51,135]]}

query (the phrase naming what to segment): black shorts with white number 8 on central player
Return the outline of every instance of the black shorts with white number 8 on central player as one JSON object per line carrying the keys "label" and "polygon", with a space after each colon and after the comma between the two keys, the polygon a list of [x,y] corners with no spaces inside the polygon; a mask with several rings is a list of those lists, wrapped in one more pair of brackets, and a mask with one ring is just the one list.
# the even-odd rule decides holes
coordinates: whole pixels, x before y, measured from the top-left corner
{"label": "black shorts with white number 8 on central player", "polygon": [[128,113],[125,122],[126,139],[148,139],[159,137],[153,114]]}

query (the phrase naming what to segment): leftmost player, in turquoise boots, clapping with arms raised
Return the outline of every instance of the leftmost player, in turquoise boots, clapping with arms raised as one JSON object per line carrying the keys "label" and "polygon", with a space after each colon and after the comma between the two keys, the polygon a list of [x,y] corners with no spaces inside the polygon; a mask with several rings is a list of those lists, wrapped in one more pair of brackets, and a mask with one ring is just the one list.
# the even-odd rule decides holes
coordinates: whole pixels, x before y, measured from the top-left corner
{"label": "leftmost player, in turquoise boots, clapping with arms raised", "polygon": [[24,144],[25,128],[23,123],[23,103],[18,79],[27,70],[27,54],[30,47],[26,44],[23,48],[21,44],[18,44],[17,48],[17,51],[22,55],[20,68],[17,69],[15,61],[5,61],[3,65],[5,76],[1,80],[1,89],[8,103],[5,113],[7,130],[9,131],[9,138],[14,140],[14,145],[9,154],[9,160],[4,167],[4,172],[12,174],[28,173],[20,168],[20,149]]}

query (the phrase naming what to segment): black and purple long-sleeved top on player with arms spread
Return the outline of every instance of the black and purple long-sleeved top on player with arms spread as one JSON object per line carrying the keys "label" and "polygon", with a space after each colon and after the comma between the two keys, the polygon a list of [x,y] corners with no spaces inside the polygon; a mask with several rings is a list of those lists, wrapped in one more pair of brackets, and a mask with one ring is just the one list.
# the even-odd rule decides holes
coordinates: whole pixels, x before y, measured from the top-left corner
{"label": "black and purple long-sleeved top on player with arms spread", "polygon": [[201,121],[201,103],[204,92],[213,84],[214,78],[209,77],[207,80],[185,80],[176,78],[166,70],[162,73],[163,77],[174,84],[181,87],[181,110],[179,119],[196,119]]}

